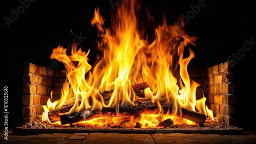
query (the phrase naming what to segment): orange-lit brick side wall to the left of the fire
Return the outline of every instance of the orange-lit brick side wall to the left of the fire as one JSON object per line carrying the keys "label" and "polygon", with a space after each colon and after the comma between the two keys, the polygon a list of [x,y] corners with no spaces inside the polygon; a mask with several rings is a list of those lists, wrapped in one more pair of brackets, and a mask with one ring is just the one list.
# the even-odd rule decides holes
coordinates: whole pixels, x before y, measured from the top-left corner
{"label": "orange-lit brick side wall to the left of the fire", "polygon": [[41,119],[44,109],[51,95],[53,70],[24,63],[23,75],[23,123]]}

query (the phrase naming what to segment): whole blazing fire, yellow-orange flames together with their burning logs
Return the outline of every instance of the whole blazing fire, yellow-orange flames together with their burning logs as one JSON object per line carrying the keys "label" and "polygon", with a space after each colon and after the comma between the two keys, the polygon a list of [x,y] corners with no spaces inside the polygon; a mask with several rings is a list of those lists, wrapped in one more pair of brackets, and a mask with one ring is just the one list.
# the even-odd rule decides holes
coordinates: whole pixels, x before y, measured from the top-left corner
{"label": "whole blazing fire, yellow-orange flames together with their burning logs", "polygon": [[[197,37],[186,34],[182,20],[180,25],[164,20],[150,43],[139,31],[143,30],[138,25],[140,11],[137,1],[124,1],[112,15],[112,27],[103,28],[105,19],[95,9],[91,22],[99,30],[100,55],[93,69],[88,63],[90,50],[85,53],[76,43],[71,55],[62,46],[53,49],[51,59],[65,65],[67,81],[61,99],[49,99],[42,121],[140,128],[169,127],[177,118],[200,126],[206,116],[214,120],[205,97],[196,100],[199,84],[187,72],[195,56],[189,45]],[[180,79],[174,76],[177,70]]]}

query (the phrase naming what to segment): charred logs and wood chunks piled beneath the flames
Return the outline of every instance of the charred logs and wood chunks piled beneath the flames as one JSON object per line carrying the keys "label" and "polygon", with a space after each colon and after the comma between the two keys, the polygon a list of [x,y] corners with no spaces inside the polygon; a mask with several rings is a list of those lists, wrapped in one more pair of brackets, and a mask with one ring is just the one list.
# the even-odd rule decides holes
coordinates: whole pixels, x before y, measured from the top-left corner
{"label": "charred logs and wood chunks piled beneath the flames", "polygon": [[[118,108],[119,113],[116,113],[117,111],[116,107],[105,107],[105,108],[102,108],[101,110],[85,109],[79,112],[68,113],[70,109],[74,106],[74,103],[69,103],[48,112],[49,120],[52,123],[60,121],[61,125],[66,125],[66,124],[72,125],[73,123],[77,123],[77,122],[90,121],[90,119],[93,119],[95,117],[102,117],[102,118],[120,117],[122,119],[125,119],[125,121],[130,121],[132,116],[136,117],[141,114],[158,114],[160,111],[158,106],[159,104],[162,107],[163,113],[172,111],[174,107],[174,103],[167,102],[166,99],[159,99],[155,103],[152,103],[150,99],[145,98],[145,95],[143,94],[144,89],[150,88],[147,82],[132,85],[132,88],[134,89],[135,94],[140,95],[140,97],[135,100],[134,102],[135,106],[126,105],[126,106],[119,107]],[[113,91],[114,90],[101,92],[101,95],[105,103],[108,103],[108,100],[111,98]],[[79,100],[79,103],[80,102],[81,100]],[[196,111],[191,111],[182,107],[179,107],[179,109],[180,109],[180,112],[178,112],[178,116],[182,118],[186,118],[190,121],[193,121],[199,124],[200,126],[204,125],[205,119],[206,119],[205,114],[196,112]],[[168,118],[160,122],[159,124],[157,124],[157,127],[169,127],[173,123],[174,123],[173,120]],[[141,124],[137,122],[135,127],[141,127]]]}

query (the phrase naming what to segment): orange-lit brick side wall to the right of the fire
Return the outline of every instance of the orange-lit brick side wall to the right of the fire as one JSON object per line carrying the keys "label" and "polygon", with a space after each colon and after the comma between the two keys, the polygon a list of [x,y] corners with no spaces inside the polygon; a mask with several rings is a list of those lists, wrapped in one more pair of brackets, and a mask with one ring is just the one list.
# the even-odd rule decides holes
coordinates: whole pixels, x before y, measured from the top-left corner
{"label": "orange-lit brick side wall to the right of the fire", "polygon": [[236,126],[236,96],[233,62],[224,62],[206,69],[208,81],[207,105],[219,120]]}

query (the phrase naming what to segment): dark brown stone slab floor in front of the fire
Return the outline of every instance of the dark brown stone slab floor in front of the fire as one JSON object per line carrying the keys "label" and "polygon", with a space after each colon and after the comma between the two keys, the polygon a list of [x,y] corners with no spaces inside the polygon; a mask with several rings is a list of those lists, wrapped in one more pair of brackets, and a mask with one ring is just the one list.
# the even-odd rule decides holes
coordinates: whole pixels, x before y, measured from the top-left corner
{"label": "dark brown stone slab floor in front of the fire", "polygon": [[35,135],[14,134],[8,130],[8,140],[1,130],[0,143],[256,143],[256,132],[239,134],[202,133],[40,133]]}

